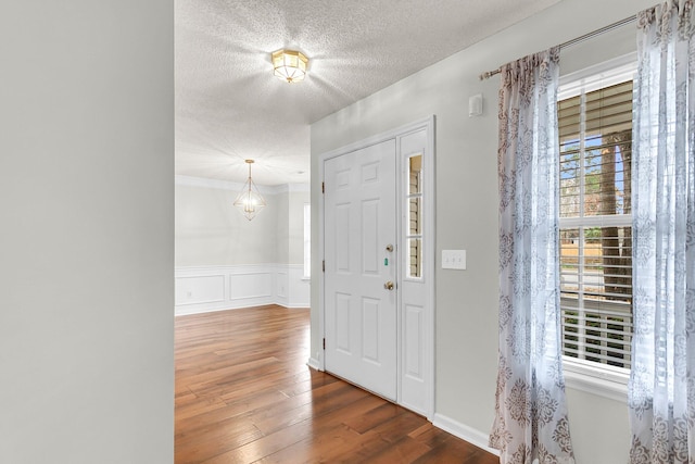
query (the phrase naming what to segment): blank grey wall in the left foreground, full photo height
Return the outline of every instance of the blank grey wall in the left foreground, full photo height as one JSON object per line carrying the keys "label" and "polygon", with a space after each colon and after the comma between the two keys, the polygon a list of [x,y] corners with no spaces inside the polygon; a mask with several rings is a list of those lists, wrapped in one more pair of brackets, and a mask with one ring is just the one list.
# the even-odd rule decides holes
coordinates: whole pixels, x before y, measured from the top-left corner
{"label": "blank grey wall in the left foreground, full photo height", "polygon": [[0,462],[174,460],[170,1],[0,14]]}

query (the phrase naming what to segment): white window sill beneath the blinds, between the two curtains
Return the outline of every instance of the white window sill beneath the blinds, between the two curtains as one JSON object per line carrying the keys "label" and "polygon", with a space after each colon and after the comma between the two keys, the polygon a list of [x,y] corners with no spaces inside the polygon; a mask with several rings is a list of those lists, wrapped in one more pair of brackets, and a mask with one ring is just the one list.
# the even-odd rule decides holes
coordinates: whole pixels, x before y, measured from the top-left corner
{"label": "white window sill beneath the blinds, between the two curtains", "polygon": [[627,403],[630,372],[612,366],[595,367],[592,364],[594,363],[563,358],[566,386]]}

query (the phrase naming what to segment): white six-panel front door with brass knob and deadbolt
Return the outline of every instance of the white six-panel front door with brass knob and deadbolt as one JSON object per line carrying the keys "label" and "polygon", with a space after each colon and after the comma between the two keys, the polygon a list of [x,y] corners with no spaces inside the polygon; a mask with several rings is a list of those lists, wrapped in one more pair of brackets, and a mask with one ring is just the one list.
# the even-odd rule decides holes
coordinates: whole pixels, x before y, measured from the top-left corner
{"label": "white six-panel front door with brass knob and deadbolt", "polygon": [[325,161],[325,367],[396,401],[395,140]]}

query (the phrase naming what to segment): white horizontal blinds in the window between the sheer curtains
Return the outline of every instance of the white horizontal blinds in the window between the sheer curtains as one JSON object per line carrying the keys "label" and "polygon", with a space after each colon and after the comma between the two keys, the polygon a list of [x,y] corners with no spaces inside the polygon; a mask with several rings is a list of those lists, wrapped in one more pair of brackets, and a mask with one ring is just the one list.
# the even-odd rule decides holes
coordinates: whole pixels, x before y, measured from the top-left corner
{"label": "white horizontal blinds in the window between the sheer curtains", "polygon": [[630,367],[632,81],[558,102],[567,356]]}

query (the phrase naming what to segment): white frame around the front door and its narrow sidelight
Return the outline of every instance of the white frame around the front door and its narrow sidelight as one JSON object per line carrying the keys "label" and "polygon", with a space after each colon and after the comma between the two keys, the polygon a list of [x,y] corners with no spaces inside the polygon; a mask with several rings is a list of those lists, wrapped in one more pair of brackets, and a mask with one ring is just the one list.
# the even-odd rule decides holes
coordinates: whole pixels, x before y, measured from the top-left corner
{"label": "white frame around the front door and its narrow sidelight", "polygon": [[[425,150],[422,153],[422,171],[424,171],[424,234],[422,234],[422,283],[426,291],[426,304],[429,308],[429,311],[425,312],[424,321],[424,347],[422,347],[422,373],[425,379],[425,411],[417,411],[420,414],[424,414],[428,421],[432,422],[434,417],[434,367],[435,367],[435,330],[434,330],[434,322],[435,322],[435,299],[434,299],[434,265],[435,265],[435,188],[434,188],[434,115],[428,116],[426,118],[413,122],[410,124],[406,124],[404,126],[394,128],[392,130],[388,130],[386,133],[378,134],[372,137],[368,137],[366,139],[356,141],[354,143],[350,143],[348,146],[338,148],[336,150],[331,150],[326,152],[319,156],[319,180],[321,185],[325,181],[325,173],[324,173],[324,164],[327,160],[336,156],[340,156],[342,154],[350,153],[355,150],[359,150],[376,143],[383,142],[386,140],[395,139],[396,141],[396,233],[397,240],[396,247],[399,250],[399,256],[402,256],[401,250],[404,247],[403,243],[403,199],[405,191],[405,183],[403,176],[403,159],[407,158],[408,153],[401,152],[401,138],[407,136],[413,133],[417,133],[419,130],[425,130],[427,136],[427,142],[425,146]],[[318,200],[318,250],[320,254],[320,262],[325,260],[325,230],[324,230],[324,195],[319,195]],[[396,286],[401,288],[403,280],[403,269],[404,265],[402,263],[402,259],[399,260],[399,268],[396,276]],[[318,269],[318,333],[321,337],[321,340],[326,336],[326,327],[325,327],[325,275],[321,268]],[[396,349],[396,403],[408,407],[407,404],[402,403],[402,375],[403,375],[403,301],[401,298],[401,292],[396,294],[396,339],[397,339],[397,349]],[[325,371],[325,352],[323,349],[318,350],[318,369]]]}

